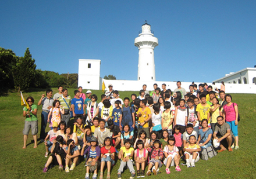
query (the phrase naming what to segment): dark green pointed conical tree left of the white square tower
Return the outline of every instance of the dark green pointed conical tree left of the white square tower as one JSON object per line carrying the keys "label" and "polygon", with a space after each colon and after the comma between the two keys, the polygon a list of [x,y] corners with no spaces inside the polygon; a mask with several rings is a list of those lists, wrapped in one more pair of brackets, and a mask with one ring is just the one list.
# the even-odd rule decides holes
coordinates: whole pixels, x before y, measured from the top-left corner
{"label": "dark green pointed conical tree left of the white square tower", "polygon": [[13,67],[13,80],[18,93],[20,90],[28,89],[35,82],[36,67],[35,60],[32,59],[29,48],[27,48],[24,57],[18,57]]}

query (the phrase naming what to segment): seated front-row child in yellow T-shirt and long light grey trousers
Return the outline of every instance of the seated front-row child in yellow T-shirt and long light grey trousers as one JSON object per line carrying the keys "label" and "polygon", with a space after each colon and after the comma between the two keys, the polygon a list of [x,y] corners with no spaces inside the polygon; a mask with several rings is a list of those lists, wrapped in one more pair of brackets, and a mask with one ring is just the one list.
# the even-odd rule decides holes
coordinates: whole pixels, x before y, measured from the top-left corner
{"label": "seated front-row child in yellow T-shirt and long light grey trousers", "polygon": [[131,159],[133,158],[133,153],[134,153],[134,149],[133,149],[133,147],[131,147],[131,140],[126,139],[125,147],[120,148],[121,163],[120,163],[120,167],[118,169],[118,179],[122,178],[121,174],[126,165],[128,166],[130,173],[131,173],[130,179],[133,179],[135,177],[135,170],[133,168],[133,162],[131,162]]}

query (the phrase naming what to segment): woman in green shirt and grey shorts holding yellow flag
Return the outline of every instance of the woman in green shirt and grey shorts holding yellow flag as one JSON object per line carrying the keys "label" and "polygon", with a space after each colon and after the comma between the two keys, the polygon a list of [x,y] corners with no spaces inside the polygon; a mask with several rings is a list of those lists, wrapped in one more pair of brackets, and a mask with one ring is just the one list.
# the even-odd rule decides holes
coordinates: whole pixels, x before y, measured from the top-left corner
{"label": "woman in green shirt and grey shorts holding yellow flag", "polygon": [[23,129],[24,135],[24,145],[23,148],[27,148],[27,136],[29,135],[29,130],[31,129],[31,133],[34,138],[34,148],[37,148],[37,132],[38,132],[38,121],[37,121],[37,105],[34,104],[34,98],[29,96],[27,97],[27,103],[29,104],[29,108],[23,108],[23,116],[26,117],[25,125]]}

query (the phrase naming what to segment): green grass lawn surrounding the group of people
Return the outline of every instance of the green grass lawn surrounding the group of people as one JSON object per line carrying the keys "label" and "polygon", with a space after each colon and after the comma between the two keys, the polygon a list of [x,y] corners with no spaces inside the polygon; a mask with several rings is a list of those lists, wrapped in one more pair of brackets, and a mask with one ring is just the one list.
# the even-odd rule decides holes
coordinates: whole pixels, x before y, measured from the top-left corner
{"label": "green grass lawn surrounding the group of people", "polygon": [[[73,95],[74,89],[69,89],[70,96]],[[54,89],[54,93],[57,89]],[[86,90],[83,90],[86,92]],[[35,104],[40,100],[41,94],[45,90],[36,90],[33,92],[23,93],[24,97],[33,96]],[[102,91],[93,90],[100,101]],[[120,92],[120,97],[130,97],[134,92]],[[138,94],[138,92],[136,92]],[[181,166],[182,171],[176,172],[174,167],[170,168],[170,174],[165,173],[165,166],[160,169],[162,171],[158,178],[256,178],[256,136],[255,131],[255,106],[256,101],[253,99],[256,94],[232,94],[233,102],[239,105],[239,145],[240,149],[233,152],[221,152],[217,156],[207,161],[199,160],[195,163],[195,167],[187,168]],[[248,105],[250,104],[250,105]],[[27,148],[23,147],[23,107],[20,105],[20,94],[9,92],[0,97],[0,178],[84,178],[86,169],[84,161],[79,163],[77,167],[65,173],[59,171],[58,167],[50,169],[47,173],[42,173],[47,158],[44,157],[45,145],[43,143],[34,149],[34,144],[29,144],[33,137],[31,131],[27,141]],[[38,137],[41,127],[41,106],[38,107]],[[47,131],[49,127],[47,127]],[[39,142],[38,142],[39,143]],[[111,178],[117,178],[117,170],[120,161],[112,169]],[[134,167],[135,169],[135,167]],[[91,175],[92,176],[92,175]],[[125,170],[122,178],[129,178],[129,170]],[[147,176],[146,176],[147,177]],[[98,176],[99,178],[99,176]],[[106,178],[106,172],[104,173]],[[150,176],[147,178],[154,178]]]}

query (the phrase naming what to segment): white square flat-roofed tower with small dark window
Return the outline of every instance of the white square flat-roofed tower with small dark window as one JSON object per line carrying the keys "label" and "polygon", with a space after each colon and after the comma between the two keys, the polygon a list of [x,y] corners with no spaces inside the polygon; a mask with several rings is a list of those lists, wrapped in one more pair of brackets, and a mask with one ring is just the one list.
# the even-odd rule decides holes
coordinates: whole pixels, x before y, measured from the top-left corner
{"label": "white square flat-roofed tower with small dark window", "polygon": [[78,86],[83,89],[99,90],[101,60],[79,59]]}

